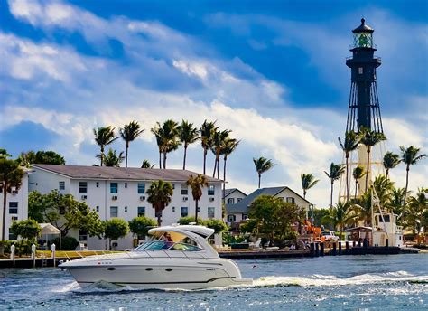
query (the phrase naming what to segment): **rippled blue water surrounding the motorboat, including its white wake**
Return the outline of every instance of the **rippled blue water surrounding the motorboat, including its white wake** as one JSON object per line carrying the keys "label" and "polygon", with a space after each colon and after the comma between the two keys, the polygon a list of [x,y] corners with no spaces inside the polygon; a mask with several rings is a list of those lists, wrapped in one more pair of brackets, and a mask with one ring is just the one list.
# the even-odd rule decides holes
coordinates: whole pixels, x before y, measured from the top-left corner
{"label": "rippled blue water surrounding the motorboat, including its white wake", "polygon": [[428,310],[428,254],[237,260],[250,287],[81,289],[60,269],[0,269],[0,309]]}

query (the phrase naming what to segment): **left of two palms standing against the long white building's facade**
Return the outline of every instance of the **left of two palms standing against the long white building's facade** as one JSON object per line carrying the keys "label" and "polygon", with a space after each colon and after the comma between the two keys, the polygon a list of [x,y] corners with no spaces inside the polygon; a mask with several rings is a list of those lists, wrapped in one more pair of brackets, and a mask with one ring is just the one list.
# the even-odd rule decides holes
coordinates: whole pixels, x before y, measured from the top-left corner
{"label": "left of two palms standing against the long white building's facade", "polygon": [[164,182],[162,179],[154,181],[147,189],[147,202],[154,207],[154,213],[157,217],[157,225],[161,226],[162,211],[171,203],[172,184]]}

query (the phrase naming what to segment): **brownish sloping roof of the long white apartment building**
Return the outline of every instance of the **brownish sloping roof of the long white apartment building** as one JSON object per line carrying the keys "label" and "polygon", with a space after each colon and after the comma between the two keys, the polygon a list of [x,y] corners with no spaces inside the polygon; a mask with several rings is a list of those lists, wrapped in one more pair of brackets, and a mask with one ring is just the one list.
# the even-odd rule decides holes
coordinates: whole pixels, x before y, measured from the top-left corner
{"label": "brownish sloping roof of the long white apartment building", "polygon": [[[61,174],[72,179],[135,180],[153,181],[163,179],[169,182],[185,182],[195,172],[180,169],[154,169],[136,167],[107,167],[83,165],[33,165],[35,169]],[[217,178],[206,176],[209,183],[221,183]]]}

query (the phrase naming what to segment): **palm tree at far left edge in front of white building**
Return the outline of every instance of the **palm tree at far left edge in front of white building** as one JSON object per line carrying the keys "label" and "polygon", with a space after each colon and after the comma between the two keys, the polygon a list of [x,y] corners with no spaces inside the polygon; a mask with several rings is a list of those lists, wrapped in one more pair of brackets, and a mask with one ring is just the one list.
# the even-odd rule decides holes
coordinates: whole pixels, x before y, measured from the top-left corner
{"label": "palm tree at far left edge in front of white building", "polygon": [[5,221],[6,221],[6,203],[7,193],[12,193],[13,190],[18,190],[21,187],[23,180],[23,169],[14,160],[0,157],[0,186],[3,192],[3,224],[2,224],[2,240],[0,247],[0,255],[4,253],[5,241]]}

